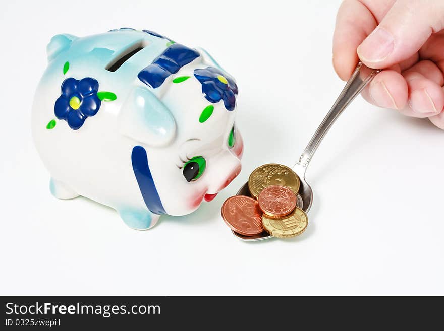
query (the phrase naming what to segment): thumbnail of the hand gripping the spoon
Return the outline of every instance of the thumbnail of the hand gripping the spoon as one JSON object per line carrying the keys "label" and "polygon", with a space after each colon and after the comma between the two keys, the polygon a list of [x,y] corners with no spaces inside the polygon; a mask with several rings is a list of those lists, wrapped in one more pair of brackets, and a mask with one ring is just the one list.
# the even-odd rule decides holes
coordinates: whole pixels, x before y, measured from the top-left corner
{"label": "thumbnail of the hand gripping the spoon", "polygon": [[380,62],[393,51],[395,40],[382,28],[376,28],[358,47],[358,56],[364,62]]}

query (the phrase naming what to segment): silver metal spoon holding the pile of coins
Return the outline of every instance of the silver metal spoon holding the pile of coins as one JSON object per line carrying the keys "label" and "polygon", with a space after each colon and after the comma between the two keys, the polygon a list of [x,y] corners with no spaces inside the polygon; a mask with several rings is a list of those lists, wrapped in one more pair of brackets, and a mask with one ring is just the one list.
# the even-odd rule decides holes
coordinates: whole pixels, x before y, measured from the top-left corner
{"label": "silver metal spoon holding the pile of coins", "polygon": [[[293,171],[296,172],[300,179],[298,207],[300,207],[305,213],[308,213],[313,203],[313,191],[305,180],[305,172],[307,171],[308,164],[313,158],[314,152],[316,152],[320,142],[331,125],[338,119],[339,115],[342,114],[353,99],[359,93],[361,93],[364,87],[370,83],[373,77],[379,72],[380,70],[370,69],[359,61],[352,77],[350,77],[335,104],[331,107],[330,111],[322,120],[322,123],[317,128],[304,152],[302,152],[301,156],[299,157],[299,161],[293,166]],[[246,182],[236,194],[250,196],[248,182]],[[265,231],[255,236],[244,236],[234,231],[232,232],[236,237],[244,241],[257,241],[272,238],[272,236]]]}

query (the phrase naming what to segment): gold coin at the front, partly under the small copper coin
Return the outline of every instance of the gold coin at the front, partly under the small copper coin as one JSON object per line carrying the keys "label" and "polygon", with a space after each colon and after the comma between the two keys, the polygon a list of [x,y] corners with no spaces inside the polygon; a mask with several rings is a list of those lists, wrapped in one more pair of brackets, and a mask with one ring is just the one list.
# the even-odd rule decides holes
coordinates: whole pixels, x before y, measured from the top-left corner
{"label": "gold coin at the front, partly under the small copper coin", "polygon": [[296,237],[305,231],[308,225],[308,217],[302,209],[296,207],[292,214],[280,218],[271,218],[263,214],[262,224],[265,231],[273,237],[290,238]]}

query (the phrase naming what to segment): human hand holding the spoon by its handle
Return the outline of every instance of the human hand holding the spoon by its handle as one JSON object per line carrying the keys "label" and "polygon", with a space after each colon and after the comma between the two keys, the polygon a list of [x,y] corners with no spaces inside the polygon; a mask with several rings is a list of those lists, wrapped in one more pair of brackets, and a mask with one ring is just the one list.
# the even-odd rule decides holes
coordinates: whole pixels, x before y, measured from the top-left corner
{"label": "human hand holding the spoon by its handle", "polygon": [[345,0],[333,39],[342,80],[358,57],[384,69],[362,92],[365,100],[444,129],[444,1]]}

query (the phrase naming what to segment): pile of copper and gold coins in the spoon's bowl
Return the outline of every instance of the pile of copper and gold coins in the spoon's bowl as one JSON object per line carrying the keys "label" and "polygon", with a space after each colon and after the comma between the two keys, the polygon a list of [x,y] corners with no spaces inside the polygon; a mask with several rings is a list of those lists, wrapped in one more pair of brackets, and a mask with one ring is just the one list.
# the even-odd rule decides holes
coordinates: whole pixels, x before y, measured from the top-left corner
{"label": "pile of copper and gold coins in the spoon's bowl", "polygon": [[262,231],[279,238],[300,235],[307,228],[308,218],[301,209],[299,184],[298,175],[284,165],[260,166],[248,179],[251,197],[229,197],[222,205],[222,218],[244,236]]}

